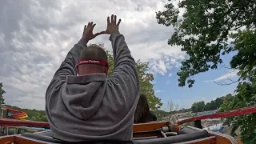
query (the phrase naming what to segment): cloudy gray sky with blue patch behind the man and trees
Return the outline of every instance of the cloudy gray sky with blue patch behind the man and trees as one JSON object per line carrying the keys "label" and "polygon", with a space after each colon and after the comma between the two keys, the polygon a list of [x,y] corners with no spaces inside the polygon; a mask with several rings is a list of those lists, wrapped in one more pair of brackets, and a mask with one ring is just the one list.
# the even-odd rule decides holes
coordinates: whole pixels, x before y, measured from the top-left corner
{"label": "cloudy gray sky with blue patch behind the man and trees", "polygon": [[[44,110],[46,88],[67,52],[82,37],[88,22],[94,31],[106,30],[106,17],[122,19],[120,32],[125,36],[135,60],[150,62],[155,95],[180,108],[193,102],[233,94],[236,84],[219,86],[236,78],[235,70],[221,68],[195,76],[192,88],[178,87],[177,71],[186,54],[169,46],[174,28],[158,25],[155,12],[164,10],[167,0],[26,0],[1,1],[0,5],[0,82],[6,104]],[[90,43],[104,43],[111,50],[109,36],[101,35]],[[232,54],[223,57],[228,65]]]}

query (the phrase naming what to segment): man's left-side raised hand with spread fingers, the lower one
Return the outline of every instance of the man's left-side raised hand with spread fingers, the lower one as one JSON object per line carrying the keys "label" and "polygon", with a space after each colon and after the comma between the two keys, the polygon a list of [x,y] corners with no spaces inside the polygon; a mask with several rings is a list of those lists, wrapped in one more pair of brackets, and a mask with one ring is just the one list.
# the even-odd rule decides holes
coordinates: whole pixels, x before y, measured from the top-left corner
{"label": "man's left-side raised hand with spread fingers, the lower one", "polygon": [[82,38],[84,39],[84,41],[89,42],[91,39],[94,39],[95,37],[101,34],[101,33],[96,33],[96,34],[93,33],[94,26],[96,26],[94,22],[89,22],[88,25],[85,26],[82,34]]}

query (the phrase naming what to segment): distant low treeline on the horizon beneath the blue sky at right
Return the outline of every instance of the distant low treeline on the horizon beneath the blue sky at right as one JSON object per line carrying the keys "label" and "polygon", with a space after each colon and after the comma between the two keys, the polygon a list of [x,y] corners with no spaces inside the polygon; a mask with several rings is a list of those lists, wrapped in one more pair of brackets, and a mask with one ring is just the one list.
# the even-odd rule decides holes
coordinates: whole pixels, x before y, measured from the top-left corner
{"label": "distant low treeline on the horizon beneath the blue sky at right", "polygon": [[194,102],[191,106],[191,110],[193,113],[207,111],[207,110],[217,110],[222,106],[223,102],[230,101],[232,100],[232,98],[233,98],[232,94],[226,94],[226,96],[223,96],[221,98],[216,98],[211,102],[207,102],[207,103],[205,103],[204,101]]}

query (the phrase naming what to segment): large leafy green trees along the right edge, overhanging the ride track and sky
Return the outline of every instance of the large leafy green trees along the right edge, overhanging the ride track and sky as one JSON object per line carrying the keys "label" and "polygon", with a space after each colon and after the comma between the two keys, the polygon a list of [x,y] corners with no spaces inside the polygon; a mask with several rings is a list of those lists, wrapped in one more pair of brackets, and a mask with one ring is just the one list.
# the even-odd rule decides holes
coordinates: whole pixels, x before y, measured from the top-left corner
{"label": "large leafy green trees along the right edge, overhanging the ride track and sky", "polygon": [[[169,0],[170,1],[170,0]],[[188,58],[178,71],[178,86],[192,87],[194,75],[218,69],[222,55],[237,52],[230,60],[230,69],[238,70],[237,90],[222,111],[253,106],[256,82],[256,4],[255,0],[183,0],[175,7],[158,11],[159,24],[174,26],[170,45],[182,47]],[[185,10],[182,16],[181,9]],[[207,104],[206,104],[207,105]],[[242,142],[256,143],[256,114],[228,118],[234,128],[241,126]]]}

